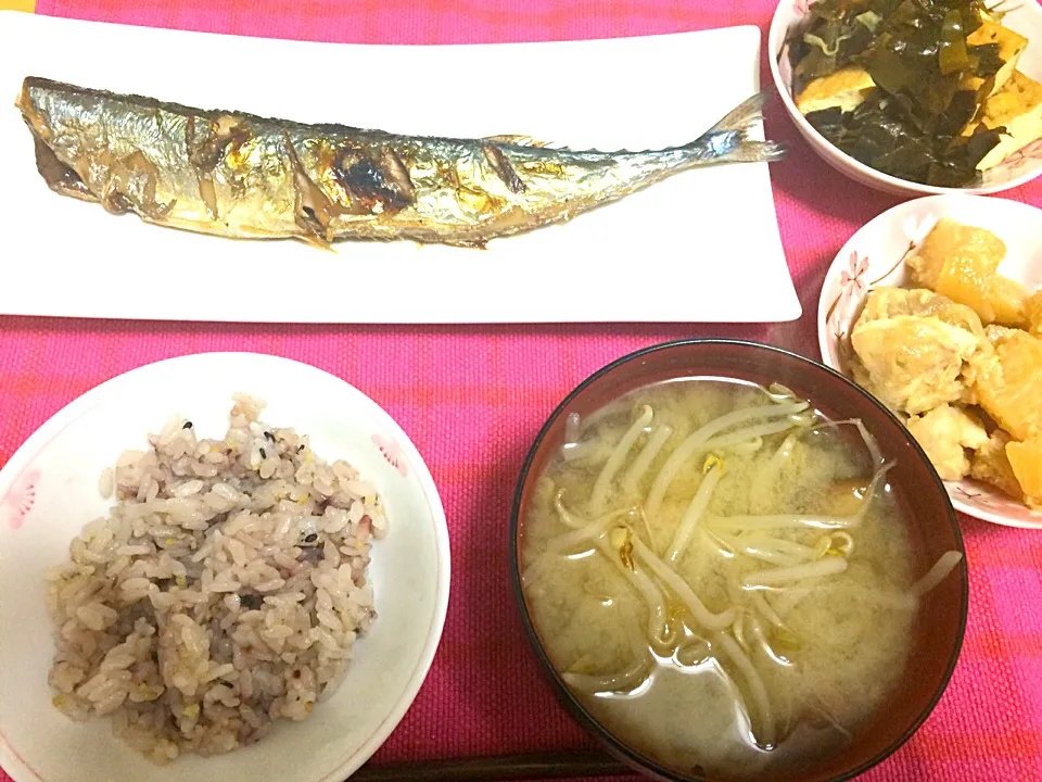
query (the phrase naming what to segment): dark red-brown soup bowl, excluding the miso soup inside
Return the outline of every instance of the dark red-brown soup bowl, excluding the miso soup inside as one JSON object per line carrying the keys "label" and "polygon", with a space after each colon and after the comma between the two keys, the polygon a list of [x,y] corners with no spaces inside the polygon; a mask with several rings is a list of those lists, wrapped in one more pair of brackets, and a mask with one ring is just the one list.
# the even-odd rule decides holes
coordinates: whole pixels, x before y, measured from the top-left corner
{"label": "dark red-brown soup bowl, excluding the miso soup inside", "polygon": [[[605,747],[624,762],[656,779],[675,782],[730,782],[690,770],[665,767],[627,745],[601,724],[554,669],[534,623],[521,582],[520,551],[536,482],[564,442],[571,413],[588,416],[634,389],[676,378],[735,378],[760,384],[780,382],[833,419],[861,418],[882,453],[897,462],[888,478],[911,519],[917,570],[925,572],[946,551],[963,551],[948,494],[923,451],[889,411],[842,375],[809,358],[762,344],[691,340],[656,345],[609,364],[584,380],[554,411],[529,451],[518,479],[510,517],[514,592],[529,641],[564,706]],[[823,755],[800,774],[771,772],[758,782],[838,782],[880,762],[919,728],[948,685],[962,645],[968,598],[965,558],[927,594],[915,626],[913,649],[903,682],[876,716],[844,747]],[[690,719],[697,720],[692,714]]]}

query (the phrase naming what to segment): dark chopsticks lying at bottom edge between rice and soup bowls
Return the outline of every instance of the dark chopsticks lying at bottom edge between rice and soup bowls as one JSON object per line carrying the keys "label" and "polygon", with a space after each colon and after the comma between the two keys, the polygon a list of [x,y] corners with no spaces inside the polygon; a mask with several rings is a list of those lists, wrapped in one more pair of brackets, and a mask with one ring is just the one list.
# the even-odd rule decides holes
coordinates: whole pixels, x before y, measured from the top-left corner
{"label": "dark chopsticks lying at bottom edge between rice and soup bowls", "polygon": [[580,751],[366,765],[352,774],[351,782],[507,782],[636,773],[606,753]]}

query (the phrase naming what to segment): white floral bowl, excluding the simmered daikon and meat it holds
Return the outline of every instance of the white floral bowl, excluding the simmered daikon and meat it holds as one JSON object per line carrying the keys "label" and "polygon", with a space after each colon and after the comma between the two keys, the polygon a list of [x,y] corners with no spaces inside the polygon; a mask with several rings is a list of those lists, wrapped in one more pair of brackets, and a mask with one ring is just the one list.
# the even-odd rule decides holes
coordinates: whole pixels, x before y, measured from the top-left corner
{"label": "white floral bowl, excluding the simmered daikon and meat it holds", "polygon": [[[904,258],[941,217],[994,232],[1006,244],[1000,274],[1029,290],[1042,286],[1042,210],[981,195],[928,195],[906,201],[854,234],[825,276],[817,306],[817,339],[827,366],[851,377],[850,329],[868,291],[905,285]],[[956,510],[1008,527],[1042,527],[1042,512],[987,484],[961,480],[945,481],[945,485]]]}

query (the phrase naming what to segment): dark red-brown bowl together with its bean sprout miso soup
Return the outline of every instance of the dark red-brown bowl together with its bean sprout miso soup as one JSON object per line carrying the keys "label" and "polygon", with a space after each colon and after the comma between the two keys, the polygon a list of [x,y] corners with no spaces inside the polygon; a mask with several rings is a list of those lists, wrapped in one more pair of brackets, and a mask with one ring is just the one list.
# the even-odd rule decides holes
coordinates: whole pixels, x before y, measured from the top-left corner
{"label": "dark red-brown bowl together with its bean sprout miso soup", "polygon": [[511,563],[563,705],[658,779],[837,782],[927,719],[965,551],[907,430],[842,375],[688,340],[606,366],[521,471]]}

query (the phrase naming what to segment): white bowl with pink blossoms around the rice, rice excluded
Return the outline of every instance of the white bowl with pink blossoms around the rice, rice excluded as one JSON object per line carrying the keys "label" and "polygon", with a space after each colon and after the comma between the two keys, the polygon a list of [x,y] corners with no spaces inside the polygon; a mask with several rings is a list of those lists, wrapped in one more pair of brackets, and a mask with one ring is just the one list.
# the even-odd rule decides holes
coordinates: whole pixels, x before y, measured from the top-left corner
{"label": "white bowl with pink blossoms around the rice, rice excluded", "polygon": [[[154,766],[109,719],[76,723],[51,705],[45,571],[67,560],[73,537],[105,514],[99,479],[122,451],[147,447],[147,434],[173,415],[190,418],[201,437],[223,437],[236,392],[265,400],[262,420],[307,433],[318,456],[350,462],[376,485],[389,527],[369,566],[377,619],[343,684],[307,720],[280,720],[232,753]],[[448,585],[434,481],[405,432],[357,389],[252,353],[189,355],[120,375],[55,414],[0,470],[0,767],[15,782],[341,782],[412,703],[441,639]]]}

